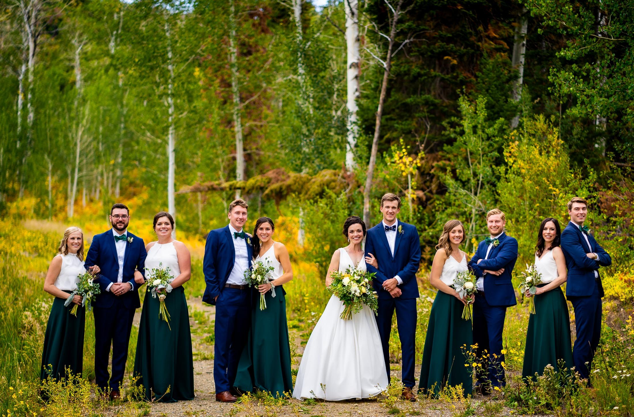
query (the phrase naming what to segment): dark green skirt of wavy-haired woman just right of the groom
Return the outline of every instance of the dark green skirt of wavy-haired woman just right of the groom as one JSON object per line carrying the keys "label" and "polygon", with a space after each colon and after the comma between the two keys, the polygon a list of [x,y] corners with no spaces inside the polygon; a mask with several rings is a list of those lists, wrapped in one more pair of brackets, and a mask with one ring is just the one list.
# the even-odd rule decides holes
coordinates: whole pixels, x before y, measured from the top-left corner
{"label": "dark green skirt of wavy-haired woman just right of the groom", "polygon": [[[473,344],[471,320],[462,318],[464,305],[456,297],[442,291],[436,294],[423,349],[418,388],[427,394],[438,394],[447,385],[462,384],[465,397],[473,389],[471,368],[461,347],[469,350]],[[473,308],[473,306],[472,306]]]}

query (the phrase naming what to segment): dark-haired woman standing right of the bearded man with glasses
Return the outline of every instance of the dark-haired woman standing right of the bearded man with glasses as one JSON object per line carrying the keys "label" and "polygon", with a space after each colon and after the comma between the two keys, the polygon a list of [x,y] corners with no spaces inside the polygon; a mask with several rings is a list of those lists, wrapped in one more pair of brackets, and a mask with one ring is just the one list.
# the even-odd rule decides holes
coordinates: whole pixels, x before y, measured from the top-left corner
{"label": "dark-haired woman standing right of the bearded man with glasses", "polygon": [[[177,402],[194,398],[193,358],[191,354],[190,319],[183,284],[190,279],[190,251],[172,238],[174,217],[167,212],[154,216],[154,231],[159,240],[146,245],[145,276],[152,279],[152,269],[169,267],[174,279],[171,292],[165,297],[169,326],[159,317],[159,298],[145,294],[139,337],[134,358],[137,385],[145,388],[148,401]],[[135,277],[139,284],[143,278]],[[164,291],[164,290],[163,290]],[[171,328],[171,330],[170,330]],[[169,388],[169,392],[167,392]]]}

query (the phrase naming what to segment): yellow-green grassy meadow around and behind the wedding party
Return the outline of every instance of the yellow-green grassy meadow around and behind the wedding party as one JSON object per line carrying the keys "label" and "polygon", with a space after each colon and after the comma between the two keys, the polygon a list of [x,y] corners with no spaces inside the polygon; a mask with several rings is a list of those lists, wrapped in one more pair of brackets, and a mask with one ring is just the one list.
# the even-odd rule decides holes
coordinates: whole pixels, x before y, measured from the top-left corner
{"label": "yellow-green grassy meadow around and behind the wedding party", "polygon": [[[328,301],[320,269],[301,256],[301,249],[295,247],[295,229],[290,225],[292,221],[280,219],[276,229],[276,240],[288,243],[291,253],[294,253],[294,280],[285,285],[287,289],[287,315],[292,335],[299,337],[299,345],[305,345],[310,331],[319,319],[321,311]],[[284,227],[286,224],[287,227]],[[81,224],[86,233],[87,243],[94,233],[107,228],[105,222],[98,220]],[[42,343],[46,321],[52,297],[42,290],[42,284],[49,261],[56,253],[61,231],[65,225],[46,221],[15,221],[0,222],[0,311],[4,323],[0,326],[0,406],[4,416],[57,416],[57,415],[100,415],[112,413],[110,406],[91,394],[89,380],[94,379],[94,320],[92,314],[86,314],[86,333],[84,338],[84,380],[76,380],[75,384],[56,386],[56,401],[44,404],[38,398],[38,386]],[[146,242],[152,238],[152,231],[148,221],[133,220],[129,230],[141,236]],[[204,291],[204,277],[202,274],[202,253],[204,241],[202,238],[182,236],[191,248],[193,255],[193,272],[186,284],[186,294],[190,300],[190,319],[192,335],[197,337],[194,343],[195,360],[213,359],[213,320],[209,312],[196,307],[196,300]],[[343,244],[343,242],[341,243]],[[333,248],[325,248],[325,250]],[[518,262],[517,269],[522,263]],[[427,282],[428,271],[422,267],[418,275],[421,297],[418,299],[417,326],[417,362],[420,363],[422,348],[425,341],[427,321],[434,298],[434,290]],[[623,275],[624,276],[624,275]],[[623,292],[628,282],[613,273],[605,279],[607,292]],[[619,289],[618,286],[622,288]],[[629,288],[629,287],[628,287]],[[519,300],[521,300],[519,298]],[[200,304],[200,303],[198,303]],[[593,388],[574,385],[573,378],[562,375],[550,375],[540,378],[530,387],[519,383],[522,357],[524,353],[524,338],[528,323],[527,302],[512,307],[507,311],[505,325],[505,349],[508,387],[504,392],[496,392],[493,398],[486,399],[479,395],[475,399],[463,399],[451,389],[446,390],[440,399],[421,399],[417,404],[404,404],[398,401],[395,393],[398,385],[391,387],[385,399],[380,401],[380,410],[384,414],[417,415],[425,414],[425,410],[442,409],[446,415],[501,415],[514,413],[536,413],[557,415],[620,415],[631,416],[634,413],[634,326],[631,317],[631,307],[611,297],[605,303],[604,339],[597,352],[595,368],[592,374]],[[571,320],[574,314],[571,311]],[[131,373],[136,347],[137,328],[133,327],[130,341],[127,373]],[[574,332],[573,332],[574,337]],[[291,340],[294,340],[291,337]],[[293,343],[292,343],[293,344]],[[292,346],[294,354],[294,368],[296,370],[300,357],[297,356],[297,346]],[[390,343],[392,371],[400,369],[400,343],[398,331],[394,324],[394,331]],[[417,369],[418,370],[418,369]],[[212,378],[209,375],[209,378]],[[397,380],[398,378],[394,378]],[[574,387],[574,388],[571,388]],[[133,398],[133,390],[129,390],[128,397]],[[136,404],[136,405],[134,405]],[[283,411],[292,406],[295,411],[300,410],[297,401],[273,401],[270,398],[251,397],[244,399],[234,406],[233,414],[240,415],[275,415],[276,410]],[[299,407],[299,408],[298,408]],[[264,410],[266,413],[264,412]],[[150,404],[130,401],[124,408],[129,415],[149,413]],[[315,409],[314,412],[318,411]],[[117,411],[120,415],[122,411]],[[298,411],[299,413],[299,411]],[[501,414],[500,414],[501,413]],[[442,413],[441,413],[442,414]],[[126,414],[127,415],[127,414]],[[299,415],[299,414],[298,414]],[[325,414],[327,415],[327,414]],[[444,414],[443,414],[444,415]]]}

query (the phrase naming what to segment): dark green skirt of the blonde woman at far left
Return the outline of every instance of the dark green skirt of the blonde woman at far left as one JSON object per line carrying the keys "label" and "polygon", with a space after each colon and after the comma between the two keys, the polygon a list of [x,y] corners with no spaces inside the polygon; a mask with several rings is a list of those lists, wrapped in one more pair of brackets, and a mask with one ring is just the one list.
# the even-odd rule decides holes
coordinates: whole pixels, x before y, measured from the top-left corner
{"label": "dark green skirt of the blonde woman at far left", "polygon": [[40,379],[49,375],[60,381],[65,378],[65,368],[81,376],[84,364],[84,324],[86,308],[77,307],[77,317],[70,314],[74,304],[64,306],[62,298],[55,297],[51,315],[48,316]]}

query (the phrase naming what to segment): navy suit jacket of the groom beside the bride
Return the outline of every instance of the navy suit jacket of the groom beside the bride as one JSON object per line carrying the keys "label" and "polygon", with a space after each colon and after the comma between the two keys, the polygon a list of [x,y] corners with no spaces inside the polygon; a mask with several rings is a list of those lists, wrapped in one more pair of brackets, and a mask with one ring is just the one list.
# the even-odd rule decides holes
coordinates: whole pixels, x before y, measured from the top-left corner
{"label": "navy suit jacket of the groom beside the bride", "polygon": [[393,257],[390,245],[387,243],[383,222],[368,230],[365,238],[365,255],[368,256],[368,253],[372,253],[378,260],[378,269],[368,265],[368,272],[376,273],[372,283],[378,293],[378,298],[392,298],[390,293],[383,289],[383,281],[397,275],[403,279],[403,284],[399,285],[401,288],[401,297],[399,298],[418,298],[418,284],[416,282],[416,273],[420,267],[418,231],[416,226],[411,224],[401,221],[398,221],[397,224]]}

